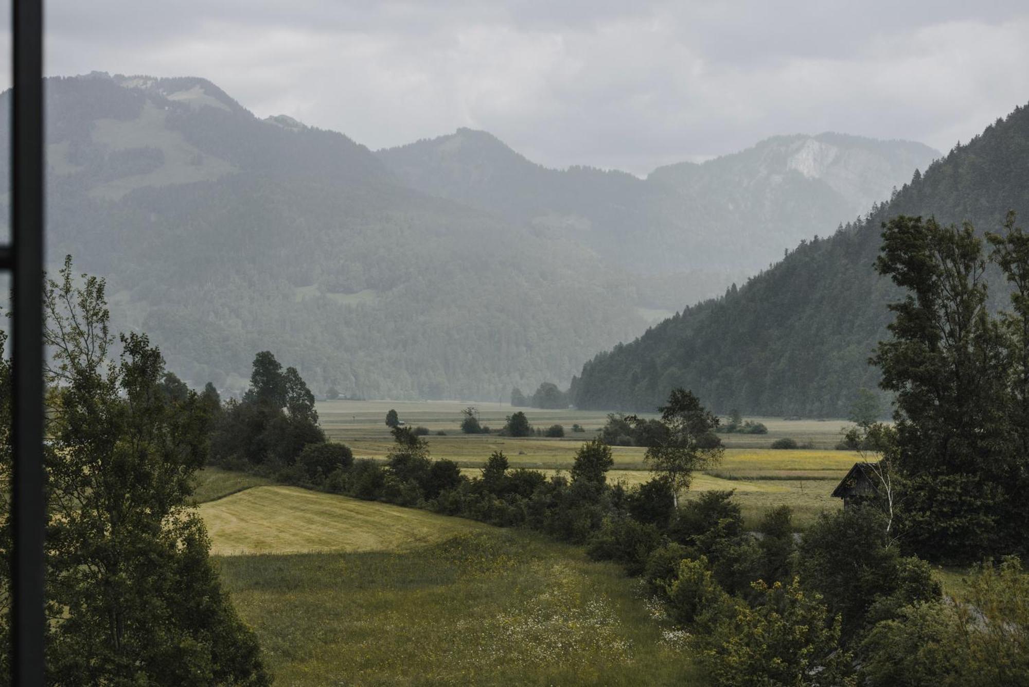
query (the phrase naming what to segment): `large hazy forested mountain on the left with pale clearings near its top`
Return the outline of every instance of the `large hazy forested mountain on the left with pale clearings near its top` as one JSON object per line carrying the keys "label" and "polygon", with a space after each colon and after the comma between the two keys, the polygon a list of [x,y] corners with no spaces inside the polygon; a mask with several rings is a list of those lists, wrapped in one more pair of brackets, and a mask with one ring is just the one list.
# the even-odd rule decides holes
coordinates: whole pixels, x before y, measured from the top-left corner
{"label": "large hazy forested mountain on the left with pale clearings near its top", "polygon": [[203,79],[54,78],[46,97],[51,264],[108,278],[114,326],[193,384],[240,389],[271,350],[316,393],[500,398],[644,326],[590,250]]}

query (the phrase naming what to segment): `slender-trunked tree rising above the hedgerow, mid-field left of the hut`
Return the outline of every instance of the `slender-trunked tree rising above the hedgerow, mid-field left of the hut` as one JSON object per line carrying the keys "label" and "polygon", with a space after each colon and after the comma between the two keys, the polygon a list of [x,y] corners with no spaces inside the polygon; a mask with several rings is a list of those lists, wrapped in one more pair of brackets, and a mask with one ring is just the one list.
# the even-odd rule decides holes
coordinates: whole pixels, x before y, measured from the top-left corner
{"label": "slender-trunked tree rising above the hedgerow, mid-field left of the hut", "polygon": [[668,435],[659,445],[647,448],[643,460],[651,472],[668,481],[678,507],[678,494],[689,486],[694,471],[721,460],[720,442],[710,443],[718,419],[684,389],[672,390],[668,403],[659,409]]}

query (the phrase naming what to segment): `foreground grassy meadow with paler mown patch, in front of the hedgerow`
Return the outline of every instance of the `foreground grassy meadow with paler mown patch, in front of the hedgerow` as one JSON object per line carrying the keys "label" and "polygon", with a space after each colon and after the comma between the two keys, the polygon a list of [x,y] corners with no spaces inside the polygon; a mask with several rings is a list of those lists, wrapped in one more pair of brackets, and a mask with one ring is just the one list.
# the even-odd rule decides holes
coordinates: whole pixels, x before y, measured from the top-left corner
{"label": "foreground grassy meadow with paler mown patch, in front of the hedgerow", "polygon": [[[309,495],[319,497],[316,506]],[[277,684],[701,679],[681,641],[651,617],[638,583],[581,548],[420,510],[256,486],[201,507],[215,551],[253,546],[246,527],[225,526],[227,511],[241,523],[274,520],[280,531],[261,539],[263,547],[278,542],[279,552],[216,557]],[[312,527],[319,545],[336,552],[284,552],[315,541],[305,532]],[[360,550],[348,550],[351,542]]]}

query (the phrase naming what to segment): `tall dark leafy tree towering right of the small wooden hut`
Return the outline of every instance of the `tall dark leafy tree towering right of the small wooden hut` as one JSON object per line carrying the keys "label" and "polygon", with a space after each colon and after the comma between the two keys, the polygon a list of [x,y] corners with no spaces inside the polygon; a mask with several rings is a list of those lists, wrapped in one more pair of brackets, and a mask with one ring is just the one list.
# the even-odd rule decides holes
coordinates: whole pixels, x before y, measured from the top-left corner
{"label": "tall dark leafy tree towering right of the small wooden hut", "polygon": [[874,358],[896,393],[906,544],[960,561],[1024,542],[1008,342],[988,309],[983,242],[969,224],[899,216],[876,266],[907,291]]}

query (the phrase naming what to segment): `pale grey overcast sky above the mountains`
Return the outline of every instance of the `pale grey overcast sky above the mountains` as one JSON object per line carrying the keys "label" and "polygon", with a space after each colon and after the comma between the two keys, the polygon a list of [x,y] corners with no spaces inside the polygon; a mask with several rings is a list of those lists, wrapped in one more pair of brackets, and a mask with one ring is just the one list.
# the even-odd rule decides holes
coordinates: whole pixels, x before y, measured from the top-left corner
{"label": "pale grey overcast sky above the mountains", "polygon": [[1025,0],[47,7],[49,74],[204,76],[370,148],[471,126],[552,167],[646,174],[821,131],[946,151],[1029,102]]}

